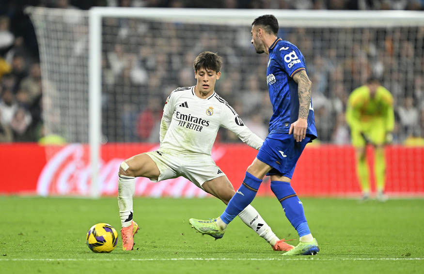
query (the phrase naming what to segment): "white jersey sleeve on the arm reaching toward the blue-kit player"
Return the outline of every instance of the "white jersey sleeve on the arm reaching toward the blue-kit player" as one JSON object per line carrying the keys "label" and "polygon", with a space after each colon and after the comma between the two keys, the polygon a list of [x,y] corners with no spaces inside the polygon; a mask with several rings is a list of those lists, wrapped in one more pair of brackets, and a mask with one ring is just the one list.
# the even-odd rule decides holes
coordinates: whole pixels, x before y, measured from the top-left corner
{"label": "white jersey sleeve on the arm reaching toward the blue-kit player", "polygon": [[223,115],[221,120],[221,126],[234,132],[237,137],[240,138],[251,148],[259,150],[264,140],[259,136],[251,132],[251,130],[241,121],[236,111],[226,103],[223,107]]}

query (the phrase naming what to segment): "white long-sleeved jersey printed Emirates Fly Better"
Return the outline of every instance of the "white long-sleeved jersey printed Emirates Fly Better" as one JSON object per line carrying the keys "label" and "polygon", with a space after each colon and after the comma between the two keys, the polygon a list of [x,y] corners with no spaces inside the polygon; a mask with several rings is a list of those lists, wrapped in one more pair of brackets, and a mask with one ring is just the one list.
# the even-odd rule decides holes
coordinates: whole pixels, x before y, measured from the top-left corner
{"label": "white long-sleeved jersey printed Emirates Fly Better", "polygon": [[263,140],[243,124],[236,111],[215,91],[206,99],[194,87],[178,88],[168,96],[160,124],[160,148],[179,153],[211,155],[222,126],[259,150]]}

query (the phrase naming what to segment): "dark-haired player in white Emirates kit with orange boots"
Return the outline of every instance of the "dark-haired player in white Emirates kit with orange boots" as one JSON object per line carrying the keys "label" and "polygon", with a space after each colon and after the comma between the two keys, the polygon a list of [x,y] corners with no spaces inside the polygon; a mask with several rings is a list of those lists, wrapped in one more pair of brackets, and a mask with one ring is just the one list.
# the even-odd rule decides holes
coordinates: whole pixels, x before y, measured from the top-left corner
{"label": "dark-haired player in white Emirates kit with orange boots", "polygon": [[[256,150],[263,143],[260,137],[243,124],[236,111],[214,91],[216,80],[221,75],[220,56],[209,51],[202,52],[193,66],[196,86],[178,88],[166,100],[159,149],[126,159],[119,168],[118,205],[123,250],[134,249],[134,235],[139,229],[133,221],[135,177],[159,182],[183,176],[228,204],[236,191],[211,157],[218,129],[223,126],[231,130]],[[238,216],[274,250],[288,251],[294,247],[284,243],[284,239],[280,240],[251,205]]]}

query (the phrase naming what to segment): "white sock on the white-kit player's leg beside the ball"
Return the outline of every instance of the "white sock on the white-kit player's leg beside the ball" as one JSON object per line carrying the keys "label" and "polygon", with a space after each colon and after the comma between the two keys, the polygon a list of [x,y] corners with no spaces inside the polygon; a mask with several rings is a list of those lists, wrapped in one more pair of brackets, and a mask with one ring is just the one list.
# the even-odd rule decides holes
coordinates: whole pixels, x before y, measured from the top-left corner
{"label": "white sock on the white-kit player's leg beside the ball", "polygon": [[129,227],[132,221],[132,197],[135,192],[135,178],[119,174],[118,206],[123,228]]}

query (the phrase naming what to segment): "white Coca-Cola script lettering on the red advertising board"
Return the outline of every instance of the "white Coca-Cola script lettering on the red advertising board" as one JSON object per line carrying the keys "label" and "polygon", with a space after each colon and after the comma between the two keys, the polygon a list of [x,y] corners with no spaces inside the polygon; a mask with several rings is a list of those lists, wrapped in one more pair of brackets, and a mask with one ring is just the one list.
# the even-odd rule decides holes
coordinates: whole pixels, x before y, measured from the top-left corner
{"label": "white Coca-Cola script lettering on the red advertising board", "polygon": [[[154,146],[148,151],[155,151]],[[110,148],[113,150],[113,148]],[[212,158],[218,161],[224,148],[212,149]],[[56,152],[43,168],[37,182],[40,196],[89,196],[91,193],[90,148],[83,144],[70,144]],[[103,196],[118,194],[118,170],[125,158],[103,159],[99,163],[99,190]],[[144,197],[205,197],[207,194],[184,177],[153,183],[147,178],[136,178],[135,196]]]}

